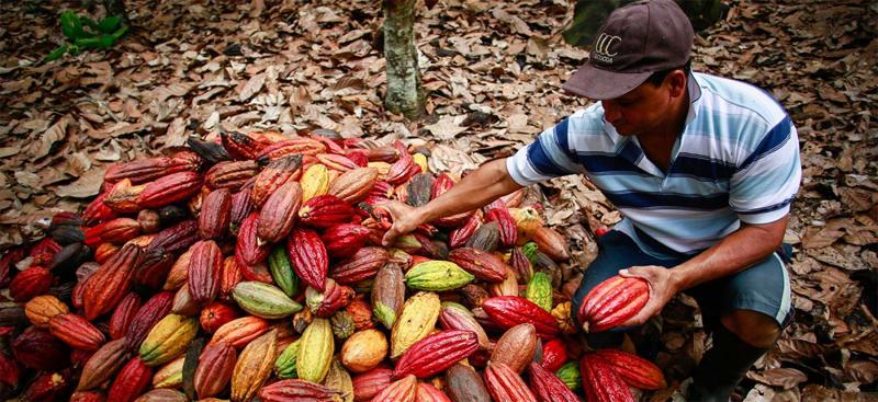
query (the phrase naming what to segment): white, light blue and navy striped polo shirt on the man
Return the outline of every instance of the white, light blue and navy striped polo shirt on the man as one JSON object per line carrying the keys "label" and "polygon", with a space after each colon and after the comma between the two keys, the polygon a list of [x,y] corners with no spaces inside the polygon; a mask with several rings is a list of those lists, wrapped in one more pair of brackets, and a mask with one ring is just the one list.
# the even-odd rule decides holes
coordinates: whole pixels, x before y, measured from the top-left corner
{"label": "white, light blue and navy striped polo shirt on the man", "polygon": [[615,229],[660,257],[705,250],[741,221],[783,218],[801,180],[796,127],[783,106],[758,88],[705,73],[689,74],[688,91],[667,173],[637,137],[604,119],[599,102],[543,131],[506,168],[524,186],[585,174],[622,214]]}

